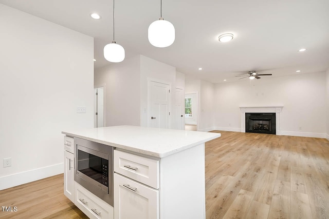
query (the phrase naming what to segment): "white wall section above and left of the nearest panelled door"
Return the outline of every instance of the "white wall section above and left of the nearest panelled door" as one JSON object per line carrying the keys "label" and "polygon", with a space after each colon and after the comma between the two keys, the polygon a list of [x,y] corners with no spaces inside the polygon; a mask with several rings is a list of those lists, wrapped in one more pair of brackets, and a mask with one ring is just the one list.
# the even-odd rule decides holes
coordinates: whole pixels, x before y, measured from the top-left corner
{"label": "white wall section above and left of the nearest panelled door", "polygon": [[[140,55],[140,125],[148,126],[148,78],[176,86],[176,68]],[[172,98],[173,100],[173,98]]]}

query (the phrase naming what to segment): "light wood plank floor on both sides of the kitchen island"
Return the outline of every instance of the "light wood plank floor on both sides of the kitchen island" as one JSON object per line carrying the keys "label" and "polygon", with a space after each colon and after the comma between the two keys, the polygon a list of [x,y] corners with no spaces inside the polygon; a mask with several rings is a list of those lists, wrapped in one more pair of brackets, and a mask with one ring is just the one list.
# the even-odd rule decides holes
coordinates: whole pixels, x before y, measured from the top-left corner
{"label": "light wood plank floor on both sides of the kitchen island", "polygon": [[[207,219],[329,218],[327,140],[218,132],[206,143]],[[87,218],[64,196],[63,174],[0,191],[1,206],[17,211],[0,218]]]}

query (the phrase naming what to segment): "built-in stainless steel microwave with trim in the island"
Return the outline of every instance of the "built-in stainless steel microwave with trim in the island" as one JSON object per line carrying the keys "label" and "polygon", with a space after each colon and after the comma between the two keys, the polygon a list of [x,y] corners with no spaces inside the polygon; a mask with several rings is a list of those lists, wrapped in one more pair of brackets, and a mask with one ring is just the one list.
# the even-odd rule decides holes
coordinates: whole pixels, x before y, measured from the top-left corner
{"label": "built-in stainless steel microwave with trim in the island", "polygon": [[113,206],[113,147],[74,138],[74,180]]}

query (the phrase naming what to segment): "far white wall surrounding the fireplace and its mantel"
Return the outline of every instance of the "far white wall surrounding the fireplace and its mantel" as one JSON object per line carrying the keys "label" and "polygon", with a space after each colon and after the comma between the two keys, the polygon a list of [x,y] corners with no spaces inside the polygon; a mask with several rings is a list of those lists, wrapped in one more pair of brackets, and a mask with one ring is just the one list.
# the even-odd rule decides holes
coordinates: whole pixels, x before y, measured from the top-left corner
{"label": "far white wall surrounding the fireplace and its mantel", "polygon": [[239,106],[283,105],[282,134],[324,137],[325,86],[324,72],[216,84],[216,129],[240,131]]}

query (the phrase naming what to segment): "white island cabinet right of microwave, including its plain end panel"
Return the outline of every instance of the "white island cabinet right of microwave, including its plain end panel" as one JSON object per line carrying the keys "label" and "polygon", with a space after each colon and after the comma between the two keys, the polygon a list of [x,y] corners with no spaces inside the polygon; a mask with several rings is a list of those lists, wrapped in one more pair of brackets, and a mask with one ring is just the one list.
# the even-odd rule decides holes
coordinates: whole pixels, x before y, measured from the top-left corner
{"label": "white island cabinet right of microwave, including its plain end panel", "polygon": [[115,219],[205,218],[204,144],[162,158],[116,149],[114,172]]}

